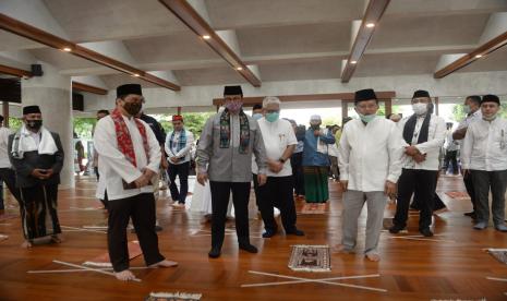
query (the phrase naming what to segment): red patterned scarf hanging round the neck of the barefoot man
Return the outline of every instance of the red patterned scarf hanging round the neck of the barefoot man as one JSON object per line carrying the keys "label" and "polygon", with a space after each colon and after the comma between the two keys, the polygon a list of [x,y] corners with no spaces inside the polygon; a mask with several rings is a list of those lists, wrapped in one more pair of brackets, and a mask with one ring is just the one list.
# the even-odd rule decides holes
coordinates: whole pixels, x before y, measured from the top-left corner
{"label": "red patterned scarf hanging round the neck of the barefoot man", "polygon": [[[135,152],[134,145],[132,144],[132,137],[129,132],[129,128],[126,128],[126,123],[123,120],[123,116],[121,115],[119,109],[114,109],[111,113],[112,121],[114,122],[114,130],[117,132],[117,142],[118,148],[120,149],[125,158],[134,166],[137,167],[137,162],[135,160]],[[141,137],[143,139],[143,146],[144,152],[146,153],[146,159],[149,161],[149,146],[148,146],[148,137],[146,135],[146,128],[144,127],[143,122],[137,118],[134,118],[135,125],[137,130],[140,130]]]}

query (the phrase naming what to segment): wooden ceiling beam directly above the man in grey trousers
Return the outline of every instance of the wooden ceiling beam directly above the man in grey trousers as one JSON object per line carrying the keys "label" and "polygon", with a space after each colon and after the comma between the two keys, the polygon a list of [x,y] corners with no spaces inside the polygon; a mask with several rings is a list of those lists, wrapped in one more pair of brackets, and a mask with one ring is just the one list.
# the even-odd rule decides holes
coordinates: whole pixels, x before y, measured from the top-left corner
{"label": "wooden ceiling beam directly above the man in grey trousers", "polygon": [[[360,60],[373,37],[373,33],[378,26],[381,17],[386,11],[389,2],[390,0],[370,0],[361,22],[361,26],[352,45],[352,49],[350,50],[346,65],[341,72],[342,83],[348,83],[352,77],[352,74],[354,73],[357,65],[360,63]],[[367,24],[373,24],[373,26],[369,27]]]}

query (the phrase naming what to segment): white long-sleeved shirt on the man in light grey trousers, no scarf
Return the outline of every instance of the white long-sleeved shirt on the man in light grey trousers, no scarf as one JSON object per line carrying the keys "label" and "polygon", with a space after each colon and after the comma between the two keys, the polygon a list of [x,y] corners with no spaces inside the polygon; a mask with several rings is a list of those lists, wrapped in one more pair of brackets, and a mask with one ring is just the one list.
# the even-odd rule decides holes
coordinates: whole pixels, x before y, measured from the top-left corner
{"label": "white long-sleeved shirt on the man in light grey trousers, no scarf", "polygon": [[401,135],[390,120],[347,122],[338,149],[340,180],[349,181],[349,190],[384,191],[387,180],[396,183],[401,174]]}

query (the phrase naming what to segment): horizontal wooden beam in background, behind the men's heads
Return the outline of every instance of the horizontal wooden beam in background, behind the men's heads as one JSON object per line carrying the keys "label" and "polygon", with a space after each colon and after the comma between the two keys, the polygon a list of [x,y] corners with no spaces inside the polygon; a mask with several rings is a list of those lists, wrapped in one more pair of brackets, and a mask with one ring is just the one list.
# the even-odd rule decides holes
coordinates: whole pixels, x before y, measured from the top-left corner
{"label": "horizontal wooden beam in background, behind the men's heads", "polygon": [[[375,92],[375,95],[378,99],[390,99],[396,97],[396,92],[394,91],[383,91]],[[354,100],[354,93],[331,93],[331,94],[309,94],[309,95],[281,95],[277,96],[282,103],[294,103],[294,101],[322,101],[322,100]],[[256,97],[243,97],[243,104],[255,105],[262,104],[265,96]],[[213,99],[214,106],[221,106],[225,103],[224,98]]]}

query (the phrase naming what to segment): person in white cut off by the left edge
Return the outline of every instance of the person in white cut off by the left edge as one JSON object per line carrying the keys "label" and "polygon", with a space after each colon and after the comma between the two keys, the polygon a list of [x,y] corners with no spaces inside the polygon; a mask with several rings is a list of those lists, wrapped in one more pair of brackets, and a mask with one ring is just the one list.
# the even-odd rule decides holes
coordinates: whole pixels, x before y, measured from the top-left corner
{"label": "person in white cut off by the left edge", "polygon": [[[16,189],[14,170],[12,169],[11,161],[9,160],[9,136],[13,132],[8,128],[2,127],[2,124],[3,116],[0,115],[0,180],[3,181],[17,203],[20,203],[20,190]],[[0,193],[2,193],[1,185]],[[3,210],[3,193],[0,195],[0,210]]]}

